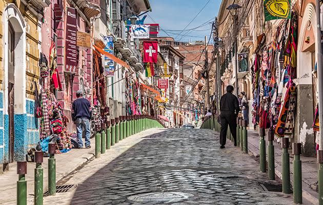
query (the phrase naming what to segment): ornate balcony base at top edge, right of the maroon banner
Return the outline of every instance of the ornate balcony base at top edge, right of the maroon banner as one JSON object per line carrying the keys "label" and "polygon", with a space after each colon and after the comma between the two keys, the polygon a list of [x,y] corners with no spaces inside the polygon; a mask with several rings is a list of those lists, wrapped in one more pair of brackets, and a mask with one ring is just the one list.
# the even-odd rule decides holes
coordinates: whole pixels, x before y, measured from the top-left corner
{"label": "ornate balcony base at top edge, right of the maroon banner", "polygon": [[76,5],[89,19],[100,13],[100,0],[76,0]]}

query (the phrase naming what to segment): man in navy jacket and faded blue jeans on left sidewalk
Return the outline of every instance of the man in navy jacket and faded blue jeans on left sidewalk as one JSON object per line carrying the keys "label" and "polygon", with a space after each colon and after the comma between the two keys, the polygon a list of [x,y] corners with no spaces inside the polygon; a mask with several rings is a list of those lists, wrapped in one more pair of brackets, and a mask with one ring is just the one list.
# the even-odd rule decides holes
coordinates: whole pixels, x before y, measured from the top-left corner
{"label": "man in navy jacket and faded blue jeans on left sidewalk", "polygon": [[90,119],[91,119],[91,104],[90,101],[83,98],[81,90],[76,92],[77,99],[72,105],[72,119],[76,125],[78,148],[83,148],[83,129],[85,130],[85,148],[91,148],[90,142]]}

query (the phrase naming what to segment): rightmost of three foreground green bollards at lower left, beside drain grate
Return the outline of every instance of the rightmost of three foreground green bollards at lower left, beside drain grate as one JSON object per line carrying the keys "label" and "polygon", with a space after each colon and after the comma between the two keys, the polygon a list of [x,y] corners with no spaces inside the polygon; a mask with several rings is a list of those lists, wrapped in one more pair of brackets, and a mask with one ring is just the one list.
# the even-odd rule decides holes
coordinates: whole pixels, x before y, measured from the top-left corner
{"label": "rightmost of three foreground green bollards at lower left, beside drain grate", "polygon": [[48,144],[48,195],[56,194],[56,159],[55,159],[56,145]]}

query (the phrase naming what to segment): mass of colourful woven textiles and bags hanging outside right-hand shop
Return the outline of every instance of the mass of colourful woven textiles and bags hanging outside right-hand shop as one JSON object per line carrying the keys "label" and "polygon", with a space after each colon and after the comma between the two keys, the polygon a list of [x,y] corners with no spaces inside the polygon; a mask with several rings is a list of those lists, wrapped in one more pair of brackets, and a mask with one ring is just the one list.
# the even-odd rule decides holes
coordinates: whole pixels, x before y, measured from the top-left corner
{"label": "mass of colourful woven textiles and bags hanging outside right-hand shop", "polygon": [[269,45],[265,34],[258,36],[254,54],[253,123],[271,128],[276,136],[293,136],[296,86],[297,20],[284,20]]}

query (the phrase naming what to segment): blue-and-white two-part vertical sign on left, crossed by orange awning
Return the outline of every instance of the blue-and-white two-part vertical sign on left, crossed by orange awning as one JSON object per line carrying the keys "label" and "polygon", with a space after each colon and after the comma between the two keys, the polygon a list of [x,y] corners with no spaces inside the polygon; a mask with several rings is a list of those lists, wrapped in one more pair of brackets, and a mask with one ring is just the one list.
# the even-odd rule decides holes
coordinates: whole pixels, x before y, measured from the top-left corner
{"label": "blue-and-white two-part vertical sign on left, crossed by orange awning", "polygon": [[[103,42],[105,44],[104,51],[114,55],[114,45],[112,36],[103,36]],[[108,57],[104,57],[104,72],[105,76],[114,76],[114,61]]]}

